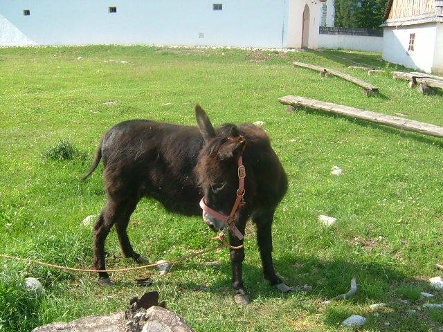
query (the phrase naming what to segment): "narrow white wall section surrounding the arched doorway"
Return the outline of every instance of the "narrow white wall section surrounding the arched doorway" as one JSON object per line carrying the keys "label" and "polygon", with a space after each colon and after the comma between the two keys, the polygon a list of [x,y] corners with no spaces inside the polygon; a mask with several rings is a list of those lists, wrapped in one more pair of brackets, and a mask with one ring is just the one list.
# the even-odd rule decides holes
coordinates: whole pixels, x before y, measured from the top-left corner
{"label": "narrow white wall section surrounding the arched doorway", "polygon": [[318,28],[320,26],[320,1],[289,0],[288,24],[284,46],[302,47],[303,10],[309,6],[309,48],[318,48]]}

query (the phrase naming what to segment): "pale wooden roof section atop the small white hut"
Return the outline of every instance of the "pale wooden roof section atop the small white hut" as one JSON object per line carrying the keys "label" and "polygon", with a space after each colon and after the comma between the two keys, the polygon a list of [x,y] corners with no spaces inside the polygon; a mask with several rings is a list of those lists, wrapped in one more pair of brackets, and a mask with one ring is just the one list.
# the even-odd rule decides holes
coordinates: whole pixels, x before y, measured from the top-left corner
{"label": "pale wooden roof section atop the small white hut", "polygon": [[433,22],[443,22],[443,0],[389,0],[381,26],[410,26]]}

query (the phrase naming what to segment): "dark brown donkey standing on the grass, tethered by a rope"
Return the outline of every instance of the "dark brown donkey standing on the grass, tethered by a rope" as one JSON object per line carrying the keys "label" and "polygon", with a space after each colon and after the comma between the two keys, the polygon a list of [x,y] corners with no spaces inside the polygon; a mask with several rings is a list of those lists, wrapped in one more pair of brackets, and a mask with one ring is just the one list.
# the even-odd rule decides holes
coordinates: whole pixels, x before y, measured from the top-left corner
{"label": "dark brown donkey standing on the grass, tethered by a rope", "polygon": [[[235,212],[233,225],[242,234],[248,219],[257,225],[264,277],[280,291],[290,291],[275,275],[271,256],[273,214],[287,190],[287,177],[269,137],[250,123],[214,129],[199,105],[195,113],[198,127],[129,120],[116,124],[102,137],[93,165],[82,178],[96,169],[100,158],[103,160],[108,199],[94,226],[94,268],[105,270],[105,239],[112,225],[116,225],[123,255],[139,264],[147,262],[132,249],[126,232],[129,217],[143,196],[189,216],[201,214],[199,201],[204,196],[209,210],[228,216],[236,201],[237,163],[242,160],[246,170],[244,202]],[[203,217],[216,232],[227,226],[226,221],[206,211]],[[235,230],[229,228],[230,244],[240,246],[242,236]],[[231,249],[230,259],[237,302],[248,302],[242,281],[244,249]],[[107,273],[99,275],[102,286],[111,284]]]}

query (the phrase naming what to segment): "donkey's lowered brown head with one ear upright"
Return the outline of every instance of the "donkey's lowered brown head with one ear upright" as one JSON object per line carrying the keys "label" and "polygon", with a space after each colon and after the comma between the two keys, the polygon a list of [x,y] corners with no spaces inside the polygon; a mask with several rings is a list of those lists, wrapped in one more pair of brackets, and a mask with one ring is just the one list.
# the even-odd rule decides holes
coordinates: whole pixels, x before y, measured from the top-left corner
{"label": "donkey's lowered brown head with one ear upright", "polygon": [[195,116],[201,136],[204,138],[204,145],[195,167],[197,181],[203,189],[204,205],[206,205],[206,210],[205,208],[203,210],[203,220],[217,232],[228,225],[228,221],[217,217],[217,214],[230,216],[236,203],[239,189],[237,163],[246,147],[246,139],[239,134],[234,124],[224,124],[215,131],[205,111],[198,104],[195,105]]}

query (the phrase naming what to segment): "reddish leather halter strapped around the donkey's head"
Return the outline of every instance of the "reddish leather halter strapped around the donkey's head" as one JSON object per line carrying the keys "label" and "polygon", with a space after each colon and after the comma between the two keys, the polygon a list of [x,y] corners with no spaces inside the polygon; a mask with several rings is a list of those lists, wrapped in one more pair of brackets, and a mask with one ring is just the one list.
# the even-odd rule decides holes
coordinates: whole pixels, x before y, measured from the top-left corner
{"label": "reddish leather halter strapped around the donkey's head", "polygon": [[238,189],[237,189],[237,193],[236,193],[237,197],[235,198],[235,203],[234,203],[233,208],[230,210],[229,216],[224,216],[223,214],[220,214],[219,212],[209,208],[208,205],[206,205],[204,197],[200,201],[200,208],[205,210],[206,212],[208,212],[208,214],[210,214],[211,216],[214,216],[215,218],[227,223],[228,227],[235,234],[235,236],[239,240],[242,240],[243,234],[242,234],[242,232],[240,232],[238,230],[237,226],[235,226],[235,224],[234,224],[235,212],[237,212],[237,209],[239,208],[239,206],[243,206],[244,204],[246,204],[246,202],[243,199],[244,192],[245,192],[244,178],[246,178],[246,169],[244,168],[243,160],[242,160],[241,156],[238,157],[237,164],[238,164],[238,169],[237,169]]}

